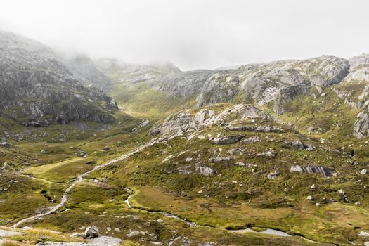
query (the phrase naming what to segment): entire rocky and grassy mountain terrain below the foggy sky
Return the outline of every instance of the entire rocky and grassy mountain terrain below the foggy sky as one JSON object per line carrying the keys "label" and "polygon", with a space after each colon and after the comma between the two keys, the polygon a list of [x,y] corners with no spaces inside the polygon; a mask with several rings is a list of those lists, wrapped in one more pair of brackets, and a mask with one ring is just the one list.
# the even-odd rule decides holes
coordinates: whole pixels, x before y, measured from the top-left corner
{"label": "entire rocky and grassy mountain terrain below the foggy sky", "polygon": [[368,244],[369,55],[181,71],[0,37],[0,245]]}

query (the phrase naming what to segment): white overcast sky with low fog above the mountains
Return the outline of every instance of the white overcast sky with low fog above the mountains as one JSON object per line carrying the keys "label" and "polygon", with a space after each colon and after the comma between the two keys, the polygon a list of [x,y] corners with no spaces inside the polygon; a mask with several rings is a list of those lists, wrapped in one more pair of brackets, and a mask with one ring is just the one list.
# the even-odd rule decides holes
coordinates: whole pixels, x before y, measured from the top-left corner
{"label": "white overcast sky with low fog above the mountains", "polygon": [[0,29],[182,70],[369,52],[368,0],[2,0]]}

